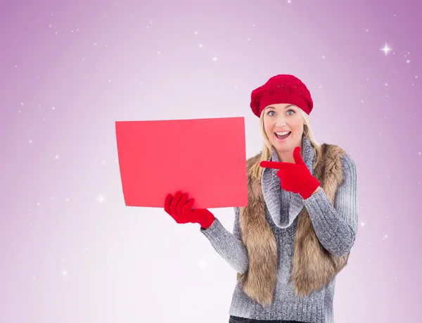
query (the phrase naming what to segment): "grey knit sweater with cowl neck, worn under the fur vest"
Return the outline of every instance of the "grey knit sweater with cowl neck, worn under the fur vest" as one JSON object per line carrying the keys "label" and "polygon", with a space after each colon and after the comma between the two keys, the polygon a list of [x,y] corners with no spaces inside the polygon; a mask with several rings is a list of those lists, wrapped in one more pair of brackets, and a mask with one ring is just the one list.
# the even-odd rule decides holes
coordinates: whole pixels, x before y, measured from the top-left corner
{"label": "grey knit sweater with cowl neck, worn under the fur vest", "polygon": [[[302,141],[302,158],[312,172],[314,151],[309,139]],[[279,161],[273,150],[271,160]],[[278,242],[279,269],[273,303],[266,308],[243,293],[236,284],[229,310],[230,315],[251,319],[295,320],[309,323],[333,323],[333,296],[335,278],[318,291],[300,298],[295,295],[293,282],[289,282],[296,224],[303,206],[308,210],[316,236],[322,246],[337,256],[347,254],[352,248],[358,224],[357,173],[350,156],[343,155],[344,182],[338,187],[335,208],[328,201],[323,189],[304,200],[280,187],[277,170],[265,168],[262,172],[262,193],[266,203],[267,221]],[[233,234],[216,218],[207,229],[200,228],[217,253],[236,270],[248,270],[248,252],[241,239],[238,226],[239,209],[234,208]]]}

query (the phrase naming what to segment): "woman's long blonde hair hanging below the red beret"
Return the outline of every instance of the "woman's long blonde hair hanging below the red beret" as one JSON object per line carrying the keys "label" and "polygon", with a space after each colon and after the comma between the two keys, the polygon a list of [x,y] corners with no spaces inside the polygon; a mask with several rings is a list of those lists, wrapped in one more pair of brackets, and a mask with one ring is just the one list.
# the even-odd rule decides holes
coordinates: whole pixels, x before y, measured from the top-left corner
{"label": "woman's long blonde hair hanging below the red beret", "polygon": [[[318,165],[319,163],[319,159],[321,158],[321,145],[318,143],[318,141],[316,141],[314,137],[314,132],[312,131],[311,120],[309,119],[309,115],[307,115],[307,113],[305,113],[304,110],[302,109],[299,109],[299,110],[300,110],[300,113],[302,114],[302,118],[304,121],[302,139],[304,137],[307,137],[307,139],[309,139],[309,142],[312,148],[314,149],[314,153],[316,156],[316,163],[313,165],[313,167],[315,168],[316,165]],[[269,141],[269,138],[267,137],[267,133],[265,132],[265,128],[264,128],[264,110],[262,110],[262,113],[260,116],[260,129],[261,129],[262,137],[264,139],[264,143],[262,144],[261,158],[260,160],[257,160],[257,163],[252,165],[249,171],[250,175],[252,176],[252,179],[255,179],[257,181],[261,180],[262,171],[264,170],[264,168],[260,166],[260,162],[262,160],[269,160],[269,158],[272,155],[272,149],[273,149],[273,146],[271,145],[271,142]]]}

